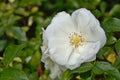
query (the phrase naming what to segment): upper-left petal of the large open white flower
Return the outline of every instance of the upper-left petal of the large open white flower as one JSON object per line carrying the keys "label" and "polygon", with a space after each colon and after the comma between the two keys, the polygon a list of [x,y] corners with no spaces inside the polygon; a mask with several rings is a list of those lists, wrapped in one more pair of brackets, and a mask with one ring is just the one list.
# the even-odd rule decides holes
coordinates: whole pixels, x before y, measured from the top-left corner
{"label": "upper-left petal of the large open white flower", "polygon": [[60,12],[53,18],[45,33],[47,38],[65,37],[75,31],[71,16],[65,12]]}

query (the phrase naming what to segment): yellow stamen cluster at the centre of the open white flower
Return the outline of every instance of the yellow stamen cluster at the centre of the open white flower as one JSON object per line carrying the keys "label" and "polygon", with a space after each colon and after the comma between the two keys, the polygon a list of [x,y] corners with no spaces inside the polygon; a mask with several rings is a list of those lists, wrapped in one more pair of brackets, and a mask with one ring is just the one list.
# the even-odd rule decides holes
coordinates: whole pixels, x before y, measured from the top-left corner
{"label": "yellow stamen cluster at the centre of the open white flower", "polygon": [[82,43],[82,37],[78,35],[77,33],[70,34],[70,44],[73,47],[78,47]]}

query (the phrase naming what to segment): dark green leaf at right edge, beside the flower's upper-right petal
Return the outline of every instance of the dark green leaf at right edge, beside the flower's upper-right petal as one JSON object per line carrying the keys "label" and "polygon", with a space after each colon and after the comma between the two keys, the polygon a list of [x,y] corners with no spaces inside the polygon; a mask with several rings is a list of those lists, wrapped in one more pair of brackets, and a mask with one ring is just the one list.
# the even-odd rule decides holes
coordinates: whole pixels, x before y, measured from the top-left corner
{"label": "dark green leaf at right edge, beside the flower's upper-right petal", "polygon": [[120,19],[106,18],[102,22],[102,27],[106,32],[120,32]]}

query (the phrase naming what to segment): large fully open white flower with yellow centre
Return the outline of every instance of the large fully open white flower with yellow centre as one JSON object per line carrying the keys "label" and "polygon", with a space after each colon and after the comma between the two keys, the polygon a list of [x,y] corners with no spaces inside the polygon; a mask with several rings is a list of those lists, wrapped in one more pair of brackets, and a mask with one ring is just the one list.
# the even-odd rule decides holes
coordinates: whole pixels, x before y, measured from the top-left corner
{"label": "large fully open white flower with yellow centre", "polygon": [[106,42],[99,21],[85,8],[74,11],[71,16],[66,12],[58,13],[44,35],[49,58],[71,70],[95,60]]}

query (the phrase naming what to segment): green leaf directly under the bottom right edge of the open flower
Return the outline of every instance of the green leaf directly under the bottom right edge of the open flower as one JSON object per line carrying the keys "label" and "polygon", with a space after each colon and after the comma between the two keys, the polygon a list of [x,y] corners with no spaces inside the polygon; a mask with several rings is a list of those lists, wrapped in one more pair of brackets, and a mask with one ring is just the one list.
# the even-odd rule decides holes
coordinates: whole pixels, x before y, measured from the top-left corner
{"label": "green leaf directly under the bottom right edge of the open flower", "polygon": [[91,70],[92,67],[93,65],[91,63],[84,63],[79,68],[72,70],[71,73],[85,73]]}

